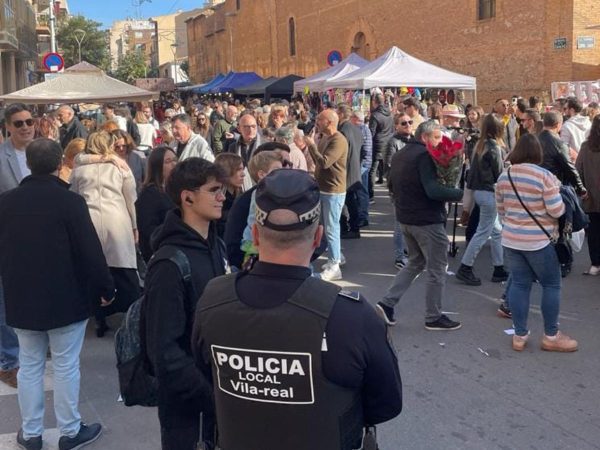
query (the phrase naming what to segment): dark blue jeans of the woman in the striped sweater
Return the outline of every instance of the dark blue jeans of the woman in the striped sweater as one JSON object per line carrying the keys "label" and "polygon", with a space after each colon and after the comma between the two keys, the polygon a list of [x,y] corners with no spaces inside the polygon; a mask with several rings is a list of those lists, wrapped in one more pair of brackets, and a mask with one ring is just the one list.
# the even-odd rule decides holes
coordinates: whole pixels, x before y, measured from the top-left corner
{"label": "dark blue jeans of the woman in the striped sweater", "polygon": [[560,263],[551,245],[541,250],[522,251],[504,247],[506,262],[510,268],[511,282],[508,290],[515,334],[525,336],[529,295],[535,279],[542,285],[542,317],[544,333],[554,336],[558,331],[560,310]]}

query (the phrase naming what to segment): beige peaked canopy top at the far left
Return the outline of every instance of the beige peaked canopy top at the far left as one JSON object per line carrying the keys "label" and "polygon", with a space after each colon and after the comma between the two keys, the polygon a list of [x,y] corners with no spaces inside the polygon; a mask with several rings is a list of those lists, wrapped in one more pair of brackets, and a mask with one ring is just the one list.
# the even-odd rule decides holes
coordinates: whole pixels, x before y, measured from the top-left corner
{"label": "beige peaked canopy top at the far left", "polygon": [[140,89],[106,75],[98,67],[81,62],[43,83],[0,96],[5,103],[45,105],[52,103],[141,102],[158,93]]}

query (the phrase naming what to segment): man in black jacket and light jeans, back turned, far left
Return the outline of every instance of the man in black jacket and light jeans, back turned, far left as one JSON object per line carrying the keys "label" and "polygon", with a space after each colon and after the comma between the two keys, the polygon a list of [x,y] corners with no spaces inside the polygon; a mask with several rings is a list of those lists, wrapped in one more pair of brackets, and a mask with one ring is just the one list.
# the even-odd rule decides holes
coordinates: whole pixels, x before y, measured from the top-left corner
{"label": "man in black jacket and light jeans, back turned, far left", "polygon": [[90,300],[108,305],[115,290],[85,200],[58,178],[60,145],[38,139],[26,156],[31,175],[0,195],[0,275],[7,322],[20,344],[17,443],[42,448],[42,381],[50,344],[59,447],[80,448],[101,432],[99,424],[83,423],[78,410],[79,354]]}

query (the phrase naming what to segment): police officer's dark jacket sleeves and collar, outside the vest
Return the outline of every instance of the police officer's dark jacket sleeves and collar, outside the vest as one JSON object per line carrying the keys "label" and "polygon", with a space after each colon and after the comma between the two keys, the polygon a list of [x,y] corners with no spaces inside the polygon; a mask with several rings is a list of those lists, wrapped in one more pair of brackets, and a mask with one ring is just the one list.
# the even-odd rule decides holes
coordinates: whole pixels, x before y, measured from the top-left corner
{"label": "police officer's dark jacket sleeves and collar, outside the vest", "polygon": [[[310,275],[306,267],[257,262],[252,271],[238,277],[236,290],[247,305],[271,308],[290,298]],[[210,364],[202,357],[198,323],[195,320],[192,350],[197,366],[212,379]],[[365,423],[374,425],[400,414],[402,382],[398,361],[387,340],[386,327],[369,303],[365,299],[358,302],[338,297],[326,334],[324,375],[332,383],[362,390]]]}

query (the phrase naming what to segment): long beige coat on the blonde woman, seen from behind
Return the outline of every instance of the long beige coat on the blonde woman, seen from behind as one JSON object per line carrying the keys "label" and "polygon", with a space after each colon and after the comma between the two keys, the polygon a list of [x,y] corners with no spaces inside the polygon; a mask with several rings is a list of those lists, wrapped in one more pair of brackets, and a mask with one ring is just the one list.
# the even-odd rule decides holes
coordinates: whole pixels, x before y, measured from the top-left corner
{"label": "long beige coat on the blonde woman, seen from behind", "polygon": [[71,190],[85,198],[108,266],[137,268],[133,237],[137,195],[131,171],[111,163],[81,165],[73,169]]}

